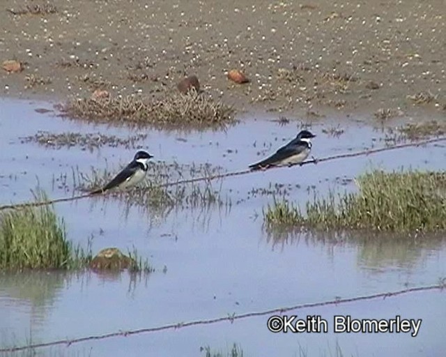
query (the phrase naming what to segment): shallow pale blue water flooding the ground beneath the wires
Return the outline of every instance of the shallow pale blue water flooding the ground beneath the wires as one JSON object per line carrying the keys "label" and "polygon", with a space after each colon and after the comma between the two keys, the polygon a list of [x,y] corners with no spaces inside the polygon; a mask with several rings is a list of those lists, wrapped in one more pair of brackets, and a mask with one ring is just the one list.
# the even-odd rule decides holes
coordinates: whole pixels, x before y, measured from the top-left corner
{"label": "shallow pale blue water flooding the ground beneath the wires", "polygon": [[[45,149],[21,144],[20,137],[38,130],[49,132],[102,132],[126,137],[129,130],[65,121],[34,109],[43,102],[0,100],[0,198],[2,204],[32,197],[37,183],[51,197],[70,195],[73,167],[88,172],[128,162],[133,149],[104,147],[93,152]],[[263,155],[275,151],[298,131],[295,123],[279,126],[263,116],[243,121],[226,132],[160,132],[148,134],[141,145],[165,162],[211,163],[232,172],[245,169]],[[323,123],[322,123],[323,122]],[[321,120],[312,126],[318,135],[312,154],[323,158],[383,145],[383,133],[365,123],[340,123],[339,138],[322,132],[336,125]],[[259,155],[258,155],[259,154]],[[137,248],[156,271],[148,276],[23,273],[0,275],[1,345],[47,342],[61,338],[100,335],[135,328],[178,324],[196,319],[225,317],[300,303],[328,301],[436,284],[446,276],[443,236],[418,241],[356,237],[278,236],[263,230],[262,209],[272,195],[251,195],[253,188],[284,183],[293,188],[290,198],[304,203],[316,191],[329,188],[354,190],[350,181],[371,167],[445,169],[444,146],[387,151],[349,158],[275,169],[225,179],[221,195],[231,205],[177,209],[167,216],[130,208],[109,200],[81,200],[56,205],[66,220],[68,236],[86,245],[93,234],[93,252],[116,246],[124,252]],[[107,160],[107,161],[106,161]],[[68,175],[67,188],[53,188],[53,178]],[[220,183],[216,183],[219,187]],[[103,232],[102,232],[102,231]],[[166,271],[163,272],[164,267]],[[331,355],[337,344],[350,356],[439,356],[446,349],[443,337],[445,295],[438,291],[298,310],[300,317],[318,314],[331,321],[333,314],[354,318],[423,319],[417,337],[410,334],[272,334],[268,317],[180,328],[50,350],[54,354],[91,356],[153,355],[199,356],[210,345],[226,351],[236,342],[246,356]]]}

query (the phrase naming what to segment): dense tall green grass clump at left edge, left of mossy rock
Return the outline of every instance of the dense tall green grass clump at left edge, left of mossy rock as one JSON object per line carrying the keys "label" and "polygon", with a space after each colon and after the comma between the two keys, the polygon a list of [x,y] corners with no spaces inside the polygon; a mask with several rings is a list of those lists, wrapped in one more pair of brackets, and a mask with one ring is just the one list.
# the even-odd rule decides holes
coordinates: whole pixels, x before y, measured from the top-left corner
{"label": "dense tall green grass clump at left edge, left of mossy rock", "polygon": [[[47,200],[43,193],[36,197]],[[66,238],[52,206],[24,207],[0,214],[0,269],[80,268],[91,258]]]}

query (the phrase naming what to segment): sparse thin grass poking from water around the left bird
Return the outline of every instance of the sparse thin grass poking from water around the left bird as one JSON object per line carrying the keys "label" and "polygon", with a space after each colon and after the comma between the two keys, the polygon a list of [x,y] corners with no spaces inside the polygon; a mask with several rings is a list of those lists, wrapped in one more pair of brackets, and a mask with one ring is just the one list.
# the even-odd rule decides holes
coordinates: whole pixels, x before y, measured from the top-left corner
{"label": "sparse thin grass poking from water around the left bird", "polygon": [[[75,187],[89,192],[110,181],[121,168],[98,170],[91,168],[89,174],[77,171],[73,174]],[[98,197],[116,197],[129,206],[142,206],[155,211],[169,211],[171,208],[195,208],[230,206],[231,201],[220,195],[222,181],[210,178],[222,174],[221,167],[204,165],[179,165],[165,162],[151,162],[146,179],[130,190],[114,190]],[[184,180],[203,179],[200,183],[183,183]]]}

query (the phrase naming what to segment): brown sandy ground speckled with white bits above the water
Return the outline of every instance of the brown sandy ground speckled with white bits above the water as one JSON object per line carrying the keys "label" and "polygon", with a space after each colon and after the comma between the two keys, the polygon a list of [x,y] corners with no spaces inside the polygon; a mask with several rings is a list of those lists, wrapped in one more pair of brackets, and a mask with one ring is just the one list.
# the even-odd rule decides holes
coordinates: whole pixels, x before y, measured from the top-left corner
{"label": "brown sandy ground speckled with white bits above the water", "polygon": [[[446,117],[444,0],[11,0],[1,7],[0,60],[24,63],[21,73],[0,70],[3,96],[65,100],[100,88],[157,97],[194,74],[237,109]],[[251,82],[230,82],[231,68]]]}

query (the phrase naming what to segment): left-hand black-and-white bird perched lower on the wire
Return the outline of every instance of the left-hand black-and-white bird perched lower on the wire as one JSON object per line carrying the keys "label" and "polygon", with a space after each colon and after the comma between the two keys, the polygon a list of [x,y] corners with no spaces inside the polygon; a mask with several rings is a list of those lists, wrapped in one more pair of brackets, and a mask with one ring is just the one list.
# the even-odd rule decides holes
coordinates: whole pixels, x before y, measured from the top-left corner
{"label": "left-hand black-and-white bird perched lower on the wire", "polygon": [[138,151],[133,160],[124,169],[117,174],[112,181],[107,183],[103,188],[90,192],[90,195],[97,195],[112,188],[130,188],[140,183],[146,176],[148,170],[148,160],[153,155],[146,151]]}

